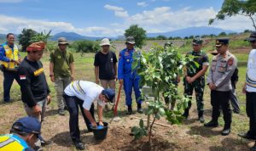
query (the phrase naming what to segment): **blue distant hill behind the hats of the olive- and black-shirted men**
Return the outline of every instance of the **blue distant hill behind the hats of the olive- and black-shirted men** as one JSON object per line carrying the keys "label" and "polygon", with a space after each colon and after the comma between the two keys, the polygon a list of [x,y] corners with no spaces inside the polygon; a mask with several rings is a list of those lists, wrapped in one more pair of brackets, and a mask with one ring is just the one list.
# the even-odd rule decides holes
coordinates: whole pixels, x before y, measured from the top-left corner
{"label": "blue distant hill behind the hats of the olive- and black-shirted men", "polygon": [[57,41],[59,37],[66,37],[68,41],[79,41],[79,40],[90,40],[96,41],[102,39],[101,37],[94,37],[94,36],[82,36],[75,32],[60,32],[55,34],[50,38],[51,41]]}

